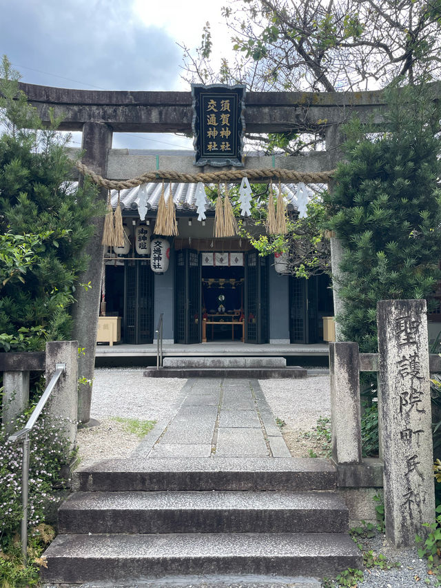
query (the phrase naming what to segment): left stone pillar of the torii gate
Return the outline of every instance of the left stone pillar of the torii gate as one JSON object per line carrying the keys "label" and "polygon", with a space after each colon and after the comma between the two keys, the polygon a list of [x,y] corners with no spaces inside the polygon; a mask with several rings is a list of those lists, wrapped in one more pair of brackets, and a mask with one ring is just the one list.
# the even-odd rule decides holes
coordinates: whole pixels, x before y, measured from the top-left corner
{"label": "left stone pillar of the torii gate", "polygon": [[[112,148],[112,128],[105,123],[84,123],[81,148],[85,152],[82,158],[83,163],[97,174],[106,177],[107,156]],[[105,188],[99,190],[99,200],[104,203],[107,201]],[[75,292],[76,303],[72,309],[74,319],[72,337],[78,341],[80,348],[85,349],[84,354],[79,355],[78,375],[91,382],[91,385],[80,384],[78,389],[78,420],[81,423],[87,423],[90,420],[104,256],[104,247],[101,245],[104,216],[95,216],[91,222],[94,225],[94,234],[85,250],[85,253],[90,256],[90,263],[88,269],[80,276],[80,281],[85,284],[90,282],[92,288],[86,292],[82,287],[78,287]]]}

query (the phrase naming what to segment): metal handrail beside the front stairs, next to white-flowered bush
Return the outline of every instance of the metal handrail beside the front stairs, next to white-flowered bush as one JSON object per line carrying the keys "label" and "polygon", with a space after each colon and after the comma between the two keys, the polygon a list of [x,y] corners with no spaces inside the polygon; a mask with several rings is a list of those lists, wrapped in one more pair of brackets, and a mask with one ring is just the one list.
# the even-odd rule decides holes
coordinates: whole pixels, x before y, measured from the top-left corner
{"label": "metal handrail beside the front stairs, next to white-flowered bush", "polygon": [[8,440],[12,443],[21,441],[23,443],[23,463],[21,466],[21,506],[23,509],[23,515],[21,517],[21,555],[25,560],[28,553],[28,494],[29,494],[29,435],[34,428],[37,418],[39,418],[41,411],[45,407],[48,398],[52,394],[52,390],[59,381],[61,374],[66,371],[65,363],[55,364],[55,372],[50,383],[43,392],[37,406],[32,411],[31,416],[28,418],[28,423],[25,427],[17,433],[9,436]]}

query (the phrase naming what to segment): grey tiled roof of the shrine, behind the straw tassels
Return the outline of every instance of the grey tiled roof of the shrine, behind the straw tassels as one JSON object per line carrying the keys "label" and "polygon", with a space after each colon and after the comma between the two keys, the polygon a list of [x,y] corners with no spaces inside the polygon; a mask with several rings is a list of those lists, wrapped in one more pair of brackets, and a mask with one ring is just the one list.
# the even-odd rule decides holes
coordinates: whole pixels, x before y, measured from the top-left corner
{"label": "grey tiled roof of the shrine, behind the straw tassels", "polygon": [[[147,183],[147,211],[158,210],[158,202],[161,197],[162,183]],[[273,185],[275,194],[278,194],[278,186]],[[288,210],[297,210],[297,186],[296,184],[282,184],[281,190],[285,196]],[[165,196],[168,196],[169,185],[165,185]],[[121,190],[121,208],[123,210],[137,211],[139,203],[139,186],[130,188],[129,190]],[[172,183],[173,201],[176,205],[176,210],[184,212],[195,212],[195,194],[196,184],[187,183]],[[112,190],[112,207],[116,208],[118,202],[118,192]],[[205,210],[214,211],[214,203],[206,199]],[[125,214],[127,214],[127,212]],[[130,214],[130,213],[129,213]],[[148,212],[147,212],[148,214]]]}

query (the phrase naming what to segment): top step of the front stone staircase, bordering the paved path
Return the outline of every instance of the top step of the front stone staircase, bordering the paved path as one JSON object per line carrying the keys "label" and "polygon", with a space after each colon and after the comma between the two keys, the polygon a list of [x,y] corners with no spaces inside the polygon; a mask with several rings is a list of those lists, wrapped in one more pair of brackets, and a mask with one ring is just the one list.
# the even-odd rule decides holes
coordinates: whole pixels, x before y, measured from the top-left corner
{"label": "top step of the front stone staircase, bordering the paved path", "polygon": [[109,459],[76,469],[72,489],[332,491],[336,469],[320,458]]}

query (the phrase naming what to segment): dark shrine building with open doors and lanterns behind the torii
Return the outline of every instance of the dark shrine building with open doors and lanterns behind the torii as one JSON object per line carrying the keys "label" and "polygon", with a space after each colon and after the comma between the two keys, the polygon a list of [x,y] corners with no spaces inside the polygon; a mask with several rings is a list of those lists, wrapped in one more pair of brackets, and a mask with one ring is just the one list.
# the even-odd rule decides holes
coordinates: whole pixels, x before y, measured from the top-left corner
{"label": "dark shrine building with open doors and lanterns behind the torii", "polygon": [[[326,318],[334,314],[329,276],[285,275],[281,260],[259,256],[247,239],[214,238],[214,203],[206,199],[206,218],[198,220],[196,185],[171,188],[174,237],[155,233],[161,183],[120,192],[125,246],[105,252],[101,315],[119,317],[122,343],[153,343],[161,314],[166,344],[312,344],[333,338]],[[287,211],[296,214],[296,185],[284,184],[283,194]],[[114,191],[112,207],[117,202]]]}

